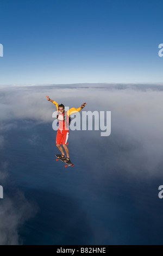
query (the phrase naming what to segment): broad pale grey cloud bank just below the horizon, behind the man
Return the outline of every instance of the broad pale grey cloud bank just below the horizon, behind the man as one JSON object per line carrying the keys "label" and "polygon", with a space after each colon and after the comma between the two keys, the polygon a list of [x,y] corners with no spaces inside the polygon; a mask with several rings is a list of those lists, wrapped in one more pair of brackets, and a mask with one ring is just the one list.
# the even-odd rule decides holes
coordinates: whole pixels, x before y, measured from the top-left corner
{"label": "broad pale grey cloud bank just below the horizon, behind the man", "polygon": [[[105,151],[110,155],[109,143],[117,150],[120,161],[115,168],[128,173],[156,175],[162,163],[162,84],[71,84],[47,86],[3,87],[1,94],[3,132],[17,127],[17,121],[53,123],[56,111],[46,95],[68,107],[87,102],[84,111],[111,111],[111,135],[105,138]],[[82,116],[82,112],[80,112]],[[3,130],[3,126],[4,130]],[[23,128],[24,129],[24,128]],[[81,133],[82,134],[82,133]],[[39,143],[33,134],[30,144]],[[82,135],[83,136],[83,135]],[[94,133],[92,132],[92,136]],[[99,135],[98,135],[99,136]],[[96,138],[101,145],[102,137]],[[78,138],[80,140],[80,138]],[[137,162],[141,162],[137,164]]]}

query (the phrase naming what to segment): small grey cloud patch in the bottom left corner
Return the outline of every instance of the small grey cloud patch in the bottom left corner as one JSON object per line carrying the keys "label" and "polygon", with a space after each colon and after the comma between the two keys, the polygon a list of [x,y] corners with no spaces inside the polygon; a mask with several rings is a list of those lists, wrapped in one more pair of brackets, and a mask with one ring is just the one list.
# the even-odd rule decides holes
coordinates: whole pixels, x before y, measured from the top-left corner
{"label": "small grey cloud patch in the bottom left corner", "polygon": [[36,205],[29,203],[20,190],[4,194],[1,199],[0,245],[20,245],[19,230],[29,218],[36,214]]}

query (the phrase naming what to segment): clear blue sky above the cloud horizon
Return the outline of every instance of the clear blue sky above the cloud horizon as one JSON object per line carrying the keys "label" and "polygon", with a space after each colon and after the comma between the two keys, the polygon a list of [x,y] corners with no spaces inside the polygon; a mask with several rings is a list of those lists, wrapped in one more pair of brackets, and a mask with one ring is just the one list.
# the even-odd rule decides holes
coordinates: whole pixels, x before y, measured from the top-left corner
{"label": "clear blue sky above the cloud horizon", "polygon": [[0,84],[162,82],[162,0],[1,0]]}

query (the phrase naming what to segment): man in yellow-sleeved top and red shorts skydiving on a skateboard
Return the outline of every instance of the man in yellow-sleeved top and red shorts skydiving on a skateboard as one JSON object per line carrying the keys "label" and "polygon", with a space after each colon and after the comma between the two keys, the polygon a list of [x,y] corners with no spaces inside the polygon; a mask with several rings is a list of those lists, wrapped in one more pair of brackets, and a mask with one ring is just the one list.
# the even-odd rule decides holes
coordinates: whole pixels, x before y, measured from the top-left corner
{"label": "man in yellow-sleeved top and red shorts skydiving on a skateboard", "polygon": [[[69,135],[69,117],[71,114],[74,114],[76,112],[79,112],[86,106],[86,102],[82,104],[79,108],[70,108],[67,112],[65,112],[65,106],[63,104],[58,104],[56,101],[51,100],[49,96],[46,96],[48,101],[51,101],[56,107],[58,111],[58,132],[57,132],[57,138],[56,138],[56,145],[57,148],[61,152],[61,156],[59,157],[62,159],[65,163],[70,162],[70,156],[69,151],[67,147],[67,141],[68,141],[68,135]],[[61,145],[64,147],[66,156],[64,154],[64,150],[62,149]]]}

